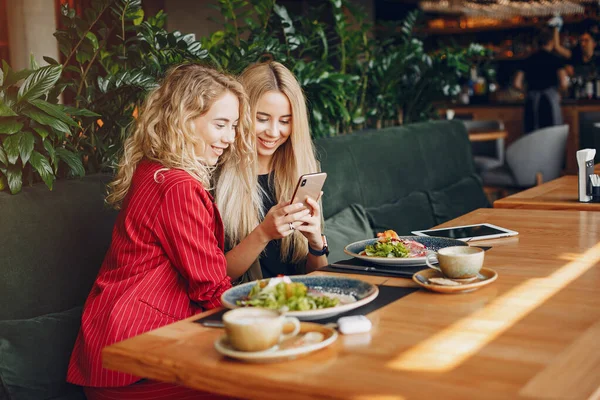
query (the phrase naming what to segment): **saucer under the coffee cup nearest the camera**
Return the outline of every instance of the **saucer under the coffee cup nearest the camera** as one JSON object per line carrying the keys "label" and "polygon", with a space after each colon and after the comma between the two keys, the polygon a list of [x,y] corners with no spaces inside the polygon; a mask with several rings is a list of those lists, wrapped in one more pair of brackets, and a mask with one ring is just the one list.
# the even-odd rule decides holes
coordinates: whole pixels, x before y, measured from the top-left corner
{"label": "saucer under the coffee cup nearest the camera", "polygon": [[335,342],[337,337],[338,333],[333,328],[311,322],[301,322],[300,332],[297,336],[265,351],[236,350],[229,343],[227,335],[223,335],[215,341],[215,349],[224,356],[241,361],[254,363],[280,362],[294,360],[327,347]]}

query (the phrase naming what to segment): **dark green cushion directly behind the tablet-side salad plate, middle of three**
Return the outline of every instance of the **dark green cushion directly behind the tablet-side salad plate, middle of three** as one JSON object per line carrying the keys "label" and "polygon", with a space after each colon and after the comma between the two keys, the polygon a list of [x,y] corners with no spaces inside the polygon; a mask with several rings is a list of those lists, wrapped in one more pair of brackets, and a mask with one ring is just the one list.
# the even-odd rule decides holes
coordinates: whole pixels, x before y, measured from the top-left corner
{"label": "dark green cushion directly behind the tablet-side salad plate, middle of three", "polygon": [[435,225],[429,197],[424,192],[414,192],[394,203],[367,208],[367,213],[375,234],[393,229],[399,235],[411,235],[411,231]]}

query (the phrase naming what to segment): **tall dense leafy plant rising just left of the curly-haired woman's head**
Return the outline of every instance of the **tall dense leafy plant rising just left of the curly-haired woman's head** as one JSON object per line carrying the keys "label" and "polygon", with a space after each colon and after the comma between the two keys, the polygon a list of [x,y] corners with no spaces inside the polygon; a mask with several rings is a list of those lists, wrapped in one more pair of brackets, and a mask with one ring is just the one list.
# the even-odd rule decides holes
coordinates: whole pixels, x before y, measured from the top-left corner
{"label": "tall dense leafy plant rising just left of the curly-haired woman's head", "polygon": [[64,29],[55,36],[66,73],[58,87],[75,107],[100,115],[83,121],[74,144],[97,171],[114,165],[136,108],[165,71],[207,51],[193,34],[167,32],[162,11],[145,18],[141,0],[92,0],[82,17],[67,6],[61,11]]}

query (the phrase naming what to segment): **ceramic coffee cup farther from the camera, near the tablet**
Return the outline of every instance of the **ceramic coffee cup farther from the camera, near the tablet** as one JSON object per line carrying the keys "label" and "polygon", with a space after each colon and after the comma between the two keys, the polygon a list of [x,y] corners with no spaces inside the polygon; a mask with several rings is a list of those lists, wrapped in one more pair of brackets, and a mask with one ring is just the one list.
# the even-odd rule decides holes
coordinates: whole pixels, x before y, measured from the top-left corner
{"label": "ceramic coffee cup farther from the camera, near the tablet", "polygon": [[[425,257],[429,268],[437,269],[451,279],[477,276],[483,266],[484,250],[479,247],[451,246],[428,253]],[[433,265],[435,259],[439,265]]]}

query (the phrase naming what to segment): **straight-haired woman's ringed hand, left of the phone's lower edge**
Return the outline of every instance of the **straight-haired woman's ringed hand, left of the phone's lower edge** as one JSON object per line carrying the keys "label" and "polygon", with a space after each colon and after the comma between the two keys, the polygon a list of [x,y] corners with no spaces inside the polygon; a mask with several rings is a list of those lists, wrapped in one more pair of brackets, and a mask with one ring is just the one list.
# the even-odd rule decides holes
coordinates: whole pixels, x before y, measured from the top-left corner
{"label": "straight-haired woman's ringed hand, left of the phone's lower edge", "polygon": [[[318,206],[318,204],[317,204]],[[291,235],[304,222],[302,218],[309,215],[310,209],[307,209],[302,203],[289,204],[289,202],[279,203],[271,207],[263,222],[258,225],[261,229],[265,242],[282,239]],[[291,227],[294,229],[291,229]]]}

